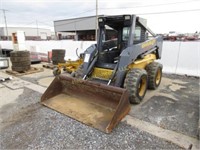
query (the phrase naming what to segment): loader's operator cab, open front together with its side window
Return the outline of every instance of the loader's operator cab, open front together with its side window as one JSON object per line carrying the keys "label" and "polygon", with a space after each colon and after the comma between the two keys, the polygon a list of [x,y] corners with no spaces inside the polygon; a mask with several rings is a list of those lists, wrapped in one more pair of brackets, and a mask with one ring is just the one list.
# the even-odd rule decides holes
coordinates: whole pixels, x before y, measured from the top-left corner
{"label": "loader's operator cab, open front together with its side window", "polygon": [[99,57],[96,63],[97,67],[114,69],[121,52],[130,46],[130,40],[134,39],[132,44],[145,41],[146,30],[138,22],[135,24],[134,37],[132,37],[132,15],[100,17],[98,22],[97,49]]}

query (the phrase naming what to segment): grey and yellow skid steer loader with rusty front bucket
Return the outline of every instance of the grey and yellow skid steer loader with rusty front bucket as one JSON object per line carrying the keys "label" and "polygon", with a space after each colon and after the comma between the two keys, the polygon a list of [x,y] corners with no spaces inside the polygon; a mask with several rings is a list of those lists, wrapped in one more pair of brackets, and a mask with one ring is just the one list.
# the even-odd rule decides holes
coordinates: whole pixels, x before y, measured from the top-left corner
{"label": "grey and yellow skid steer loader with rusty front bucket", "polygon": [[[147,88],[162,77],[162,38],[136,15],[98,18],[97,44],[84,52],[84,61],[71,77],[59,75],[41,98],[42,104],[109,133],[139,104]],[[148,39],[148,34],[151,38]]]}

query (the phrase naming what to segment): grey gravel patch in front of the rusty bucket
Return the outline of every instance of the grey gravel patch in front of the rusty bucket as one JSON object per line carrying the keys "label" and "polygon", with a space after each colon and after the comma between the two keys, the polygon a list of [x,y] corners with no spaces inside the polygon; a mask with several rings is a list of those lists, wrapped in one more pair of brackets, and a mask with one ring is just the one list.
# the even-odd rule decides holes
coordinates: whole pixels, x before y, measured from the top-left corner
{"label": "grey gravel patch in front of the rusty bucket", "polygon": [[39,103],[14,118],[1,130],[1,149],[180,149],[125,122],[105,134]]}

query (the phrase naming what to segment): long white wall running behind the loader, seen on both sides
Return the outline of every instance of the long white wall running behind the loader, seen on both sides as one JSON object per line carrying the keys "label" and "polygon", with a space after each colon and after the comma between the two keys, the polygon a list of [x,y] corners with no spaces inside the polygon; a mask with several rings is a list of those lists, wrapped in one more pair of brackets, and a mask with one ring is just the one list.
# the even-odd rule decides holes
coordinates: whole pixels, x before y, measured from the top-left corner
{"label": "long white wall running behind the loader, seen on both sides", "polygon": [[[66,49],[65,59],[76,60],[78,54],[84,52],[95,41],[26,41],[27,50],[35,46],[37,52],[47,53],[52,49]],[[11,41],[0,41],[2,48],[12,49]],[[163,42],[163,71],[170,74],[200,76],[200,41],[196,42]]]}

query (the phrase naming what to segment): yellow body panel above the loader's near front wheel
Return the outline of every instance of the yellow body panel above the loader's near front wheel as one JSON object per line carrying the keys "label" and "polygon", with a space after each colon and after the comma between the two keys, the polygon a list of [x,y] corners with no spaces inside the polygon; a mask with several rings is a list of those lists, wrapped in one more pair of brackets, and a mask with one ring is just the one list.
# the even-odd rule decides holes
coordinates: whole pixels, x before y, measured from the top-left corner
{"label": "yellow body panel above the loader's near front wheel", "polygon": [[135,62],[128,65],[128,69],[132,69],[132,68],[145,69],[145,67],[149,63],[153,62],[154,60],[156,60],[156,55],[155,54],[148,54],[143,59],[136,60]]}

